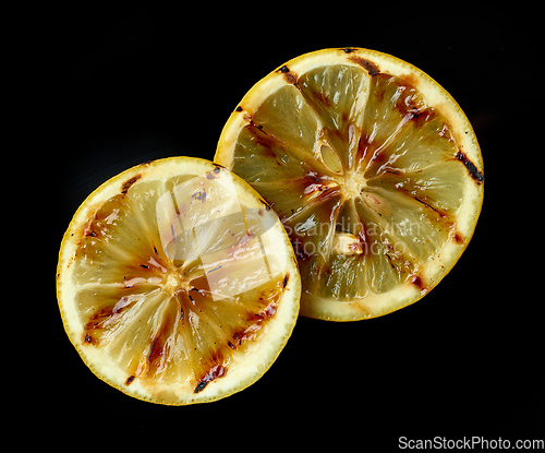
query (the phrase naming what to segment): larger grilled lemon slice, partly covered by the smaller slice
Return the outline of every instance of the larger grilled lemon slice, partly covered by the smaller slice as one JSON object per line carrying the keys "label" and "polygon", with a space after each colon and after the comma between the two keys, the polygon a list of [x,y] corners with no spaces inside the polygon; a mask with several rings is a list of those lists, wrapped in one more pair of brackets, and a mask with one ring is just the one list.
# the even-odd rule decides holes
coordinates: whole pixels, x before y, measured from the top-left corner
{"label": "larger grilled lemon slice, partly covered by the smaller slice", "polygon": [[278,213],[312,318],[374,318],[422,298],[460,258],[483,202],[458,104],[413,65],[360,48],[303,55],[259,81],[215,160]]}

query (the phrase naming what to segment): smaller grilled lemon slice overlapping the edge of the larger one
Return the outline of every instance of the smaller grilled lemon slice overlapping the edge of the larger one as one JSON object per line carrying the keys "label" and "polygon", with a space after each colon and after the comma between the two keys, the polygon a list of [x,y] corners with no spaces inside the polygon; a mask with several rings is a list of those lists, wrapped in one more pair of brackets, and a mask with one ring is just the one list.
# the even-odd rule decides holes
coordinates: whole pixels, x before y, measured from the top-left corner
{"label": "smaller grilled lemon slice overlapping the edge of the larger one", "polygon": [[184,405],[254,383],[288,341],[301,281],[272,210],[218,165],[131,168],[80,206],[57,291],[85,363],[118,390]]}

